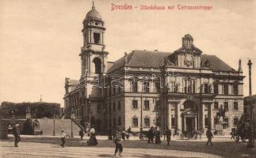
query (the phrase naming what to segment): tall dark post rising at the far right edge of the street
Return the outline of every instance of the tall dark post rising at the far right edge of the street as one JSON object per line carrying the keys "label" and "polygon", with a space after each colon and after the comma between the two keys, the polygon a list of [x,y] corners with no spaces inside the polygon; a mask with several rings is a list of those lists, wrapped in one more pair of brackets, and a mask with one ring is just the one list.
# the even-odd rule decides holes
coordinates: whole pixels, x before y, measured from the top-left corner
{"label": "tall dark post rising at the far right edge of the street", "polygon": [[248,144],[247,144],[247,147],[248,148],[253,148],[254,147],[254,107],[253,107],[253,104],[252,104],[252,98],[251,98],[251,65],[252,65],[252,62],[248,61],[248,64],[249,66],[249,98],[250,98],[250,137],[249,137],[249,141],[248,141]]}

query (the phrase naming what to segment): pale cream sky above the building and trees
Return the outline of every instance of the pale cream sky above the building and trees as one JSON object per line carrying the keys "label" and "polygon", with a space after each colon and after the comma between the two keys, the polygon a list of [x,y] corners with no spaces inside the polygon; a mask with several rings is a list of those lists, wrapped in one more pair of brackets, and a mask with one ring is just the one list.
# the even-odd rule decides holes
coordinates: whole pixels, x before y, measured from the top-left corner
{"label": "pale cream sky above the building and trees", "polygon": [[[244,95],[248,95],[248,58],[252,92],[256,94],[256,1],[94,0],[105,21],[109,61],[132,50],[172,52],[189,33],[204,54],[216,55],[235,70],[242,59]],[[132,10],[113,10],[131,5]],[[174,6],[140,10],[143,6]],[[211,10],[179,10],[181,6],[212,6]],[[46,102],[63,105],[64,79],[81,72],[82,21],[90,0],[0,1],[0,102]],[[138,6],[137,9],[134,6]]]}

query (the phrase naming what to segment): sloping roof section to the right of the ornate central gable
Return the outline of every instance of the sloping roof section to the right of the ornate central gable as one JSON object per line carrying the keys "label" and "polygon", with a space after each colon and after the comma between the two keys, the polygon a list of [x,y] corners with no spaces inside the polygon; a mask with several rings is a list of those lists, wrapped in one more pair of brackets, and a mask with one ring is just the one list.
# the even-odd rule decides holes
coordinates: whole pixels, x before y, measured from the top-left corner
{"label": "sloping roof section to the right of the ornate central gable", "polygon": [[232,71],[235,70],[231,68],[231,66],[228,66],[224,61],[222,61],[220,58],[216,57],[216,55],[202,55],[201,56],[201,62],[210,62],[210,68],[213,71]]}

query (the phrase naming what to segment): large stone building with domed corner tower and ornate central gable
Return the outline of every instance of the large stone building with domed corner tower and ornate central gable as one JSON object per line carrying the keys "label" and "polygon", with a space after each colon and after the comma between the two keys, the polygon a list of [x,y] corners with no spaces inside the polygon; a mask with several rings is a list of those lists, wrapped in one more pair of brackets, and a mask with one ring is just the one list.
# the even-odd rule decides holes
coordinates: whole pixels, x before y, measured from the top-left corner
{"label": "large stone building with domed corner tower and ornate central gable", "polygon": [[185,35],[177,51],[136,50],[108,62],[105,30],[93,6],[83,21],[81,78],[66,78],[67,118],[73,111],[76,119],[86,119],[102,133],[116,126],[214,130],[223,107],[224,128],[235,126],[243,114],[241,61],[234,70],[215,55],[205,55]]}

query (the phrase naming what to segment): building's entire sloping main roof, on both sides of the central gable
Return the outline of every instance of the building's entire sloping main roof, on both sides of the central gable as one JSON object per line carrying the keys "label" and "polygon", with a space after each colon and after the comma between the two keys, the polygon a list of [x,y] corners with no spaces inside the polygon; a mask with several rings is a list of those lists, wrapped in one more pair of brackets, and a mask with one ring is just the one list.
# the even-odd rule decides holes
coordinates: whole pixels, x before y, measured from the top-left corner
{"label": "building's entire sloping main roof, on both sides of the central gable", "polygon": [[[164,65],[164,60],[167,56],[171,55],[170,52],[162,52],[162,51],[132,51],[126,56],[126,64],[125,66],[130,67],[143,67],[143,68],[159,68]],[[235,71],[228,66],[224,61],[220,58],[216,57],[216,55],[202,55],[202,62],[210,63],[210,69],[213,71]],[[124,57],[119,58],[113,65],[108,63],[108,73],[120,69],[124,66]]]}

